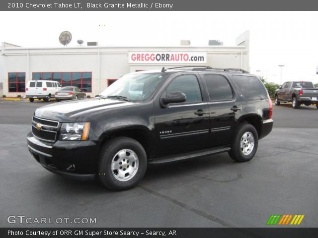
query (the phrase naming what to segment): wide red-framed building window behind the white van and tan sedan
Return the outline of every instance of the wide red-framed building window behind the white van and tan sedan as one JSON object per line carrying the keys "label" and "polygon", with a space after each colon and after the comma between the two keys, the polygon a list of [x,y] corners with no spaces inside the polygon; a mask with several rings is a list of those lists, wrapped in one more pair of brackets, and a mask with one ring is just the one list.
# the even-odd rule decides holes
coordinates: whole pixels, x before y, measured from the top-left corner
{"label": "wide red-framed building window behind the white van and tan sedan", "polygon": [[36,72],[33,80],[54,80],[62,87],[76,86],[84,92],[91,92],[91,72]]}

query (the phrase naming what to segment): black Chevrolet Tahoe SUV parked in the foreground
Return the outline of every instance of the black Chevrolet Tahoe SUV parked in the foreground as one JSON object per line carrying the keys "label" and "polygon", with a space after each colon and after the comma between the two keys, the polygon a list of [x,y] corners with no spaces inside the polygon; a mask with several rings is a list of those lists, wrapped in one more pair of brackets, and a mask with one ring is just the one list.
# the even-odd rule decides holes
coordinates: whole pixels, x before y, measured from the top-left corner
{"label": "black Chevrolet Tahoe SUV parked in the foreground", "polygon": [[147,164],[229,152],[246,162],[273,127],[262,82],[243,70],[179,67],[127,74],[95,99],[38,108],[28,149],[47,170],[114,190]]}

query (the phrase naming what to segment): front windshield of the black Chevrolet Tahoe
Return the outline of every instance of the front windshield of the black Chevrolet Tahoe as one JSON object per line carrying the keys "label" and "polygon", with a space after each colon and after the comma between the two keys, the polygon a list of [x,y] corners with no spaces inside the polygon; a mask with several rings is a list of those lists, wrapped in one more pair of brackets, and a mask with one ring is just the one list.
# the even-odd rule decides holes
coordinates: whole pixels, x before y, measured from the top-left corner
{"label": "front windshield of the black Chevrolet Tahoe", "polygon": [[120,96],[129,101],[143,101],[156,91],[162,79],[161,73],[127,74],[112,83],[100,95]]}

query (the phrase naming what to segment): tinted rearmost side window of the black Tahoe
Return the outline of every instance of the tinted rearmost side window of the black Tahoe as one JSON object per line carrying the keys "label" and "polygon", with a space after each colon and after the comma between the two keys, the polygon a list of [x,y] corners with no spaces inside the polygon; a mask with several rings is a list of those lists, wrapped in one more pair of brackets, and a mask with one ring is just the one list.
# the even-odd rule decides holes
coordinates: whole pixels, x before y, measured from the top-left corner
{"label": "tinted rearmost side window of the black Tahoe", "polygon": [[235,82],[246,99],[266,99],[267,91],[263,83],[255,76],[233,75]]}

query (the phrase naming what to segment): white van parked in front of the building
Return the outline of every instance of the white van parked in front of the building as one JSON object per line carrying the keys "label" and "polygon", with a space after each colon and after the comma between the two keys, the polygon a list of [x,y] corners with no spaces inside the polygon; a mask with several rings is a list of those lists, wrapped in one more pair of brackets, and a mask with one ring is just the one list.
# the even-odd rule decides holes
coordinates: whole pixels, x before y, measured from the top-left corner
{"label": "white van parked in front of the building", "polygon": [[55,97],[55,92],[59,91],[61,84],[52,80],[32,80],[25,88],[25,97],[33,103],[34,99],[50,102]]}

